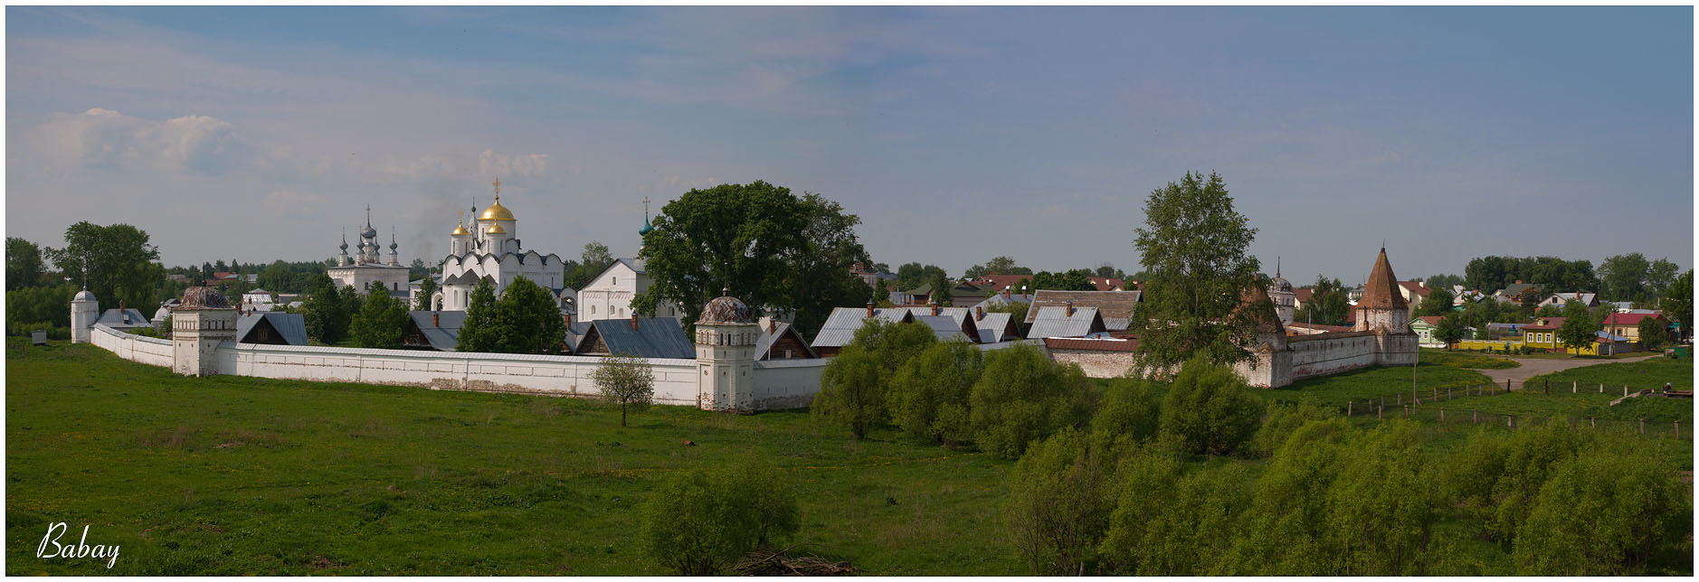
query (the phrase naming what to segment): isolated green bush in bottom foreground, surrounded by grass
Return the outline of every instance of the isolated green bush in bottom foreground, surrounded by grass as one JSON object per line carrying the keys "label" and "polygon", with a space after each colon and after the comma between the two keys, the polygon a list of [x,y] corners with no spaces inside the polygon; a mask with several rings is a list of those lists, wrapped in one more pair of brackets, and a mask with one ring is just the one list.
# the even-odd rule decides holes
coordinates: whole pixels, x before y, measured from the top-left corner
{"label": "isolated green bush in bottom foreground, surrounded by grass", "polygon": [[649,495],[642,519],[644,548],[680,575],[719,574],[799,524],[795,494],[753,463],[675,473]]}

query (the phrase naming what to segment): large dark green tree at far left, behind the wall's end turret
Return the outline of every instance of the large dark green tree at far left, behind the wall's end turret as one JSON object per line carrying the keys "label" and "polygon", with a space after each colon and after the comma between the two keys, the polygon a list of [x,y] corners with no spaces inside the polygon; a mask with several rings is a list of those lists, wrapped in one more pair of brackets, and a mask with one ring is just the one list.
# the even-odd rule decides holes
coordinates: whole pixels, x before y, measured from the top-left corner
{"label": "large dark green tree at far left, behind the wall's end turret", "polygon": [[71,283],[87,282],[100,300],[158,305],[153,292],[165,266],[155,263],[160,249],[148,243],[148,232],[134,226],[76,222],[65,229],[65,248],[48,255]]}

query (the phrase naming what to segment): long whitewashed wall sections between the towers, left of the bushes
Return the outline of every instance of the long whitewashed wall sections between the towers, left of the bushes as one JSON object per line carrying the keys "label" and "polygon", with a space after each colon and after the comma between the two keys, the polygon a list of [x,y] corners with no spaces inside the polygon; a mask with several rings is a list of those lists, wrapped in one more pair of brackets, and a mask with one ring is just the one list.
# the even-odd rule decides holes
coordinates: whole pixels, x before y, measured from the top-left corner
{"label": "long whitewashed wall sections between the towers, left of the bushes", "polygon": [[[172,367],[172,343],[95,326],[92,343],[119,358]],[[435,390],[595,397],[598,356],[532,356],[224,343],[219,373],[279,380],[415,385]],[[805,407],[829,360],[756,361],[756,409]],[[697,360],[654,358],[654,402],[698,406]]]}

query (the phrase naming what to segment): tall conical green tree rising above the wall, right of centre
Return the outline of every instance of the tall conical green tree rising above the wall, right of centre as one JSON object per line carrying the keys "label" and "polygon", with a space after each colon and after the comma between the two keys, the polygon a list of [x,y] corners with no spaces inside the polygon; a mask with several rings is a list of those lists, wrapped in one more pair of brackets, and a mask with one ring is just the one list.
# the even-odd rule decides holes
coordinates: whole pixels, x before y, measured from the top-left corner
{"label": "tall conical green tree rising above the wall, right of centre", "polygon": [[1188,171],[1179,183],[1150,192],[1145,226],[1133,243],[1150,270],[1140,317],[1137,368],[1164,370],[1194,353],[1213,363],[1250,358],[1257,326],[1273,311],[1240,309],[1261,280],[1247,253],[1257,229],[1233,210],[1222,176]]}

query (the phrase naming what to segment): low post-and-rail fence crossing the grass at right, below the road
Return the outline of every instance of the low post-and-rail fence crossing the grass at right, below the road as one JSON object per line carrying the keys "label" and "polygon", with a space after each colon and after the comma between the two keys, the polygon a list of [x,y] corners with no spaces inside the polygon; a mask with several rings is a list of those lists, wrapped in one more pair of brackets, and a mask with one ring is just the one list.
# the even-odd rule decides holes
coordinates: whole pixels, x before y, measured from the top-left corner
{"label": "low post-and-rail fence crossing the grass at right, below the road", "polygon": [[[1346,404],[1344,412],[1347,417],[1414,419],[1424,423],[1437,423],[1442,428],[1454,424],[1471,424],[1471,426],[1485,424],[1485,426],[1504,426],[1507,429],[1517,429],[1524,426],[1539,426],[1539,424],[1563,421],[1572,429],[1583,429],[1583,428],[1616,429],[1633,434],[1672,436],[1680,439],[1694,438],[1692,436],[1694,428],[1691,426],[1692,423],[1687,423],[1689,426],[1684,426],[1682,421],[1607,419],[1595,416],[1558,417],[1556,412],[1516,414],[1516,412],[1480,411],[1478,407],[1439,406],[1444,400],[1454,400],[1461,397],[1493,397],[1509,394],[1541,394],[1541,395],[1565,394],[1565,390],[1561,389],[1570,389],[1566,390],[1568,394],[1582,394],[1582,392],[1612,394],[1612,395],[1617,394],[1617,387],[1606,383],[1599,383],[1597,387],[1590,383],[1587,387],[1582,387],[1578,382],[1568,382],[1568,383],[1570,383],[1568,387],[1561,387],[1561,385],[1551,385],[1549,382],[1539,382],[1532,389],[1527,387],[1526,383],[1521,385],[1521,389],[1514,389],[1514,385],[1507,380],[1505,385],[1478,383],[1478,385],[1465,385],[1453,389],[1429,389],[1429,390],[1420,390],[1417,394],[1408,394],[1408,397],[1405,394],[1398,394],[1391,397],[1352,400]],[[1658,394],[1658,389],[1662,387],[1634,389],[1629,385],[1623,385],[1619,389],[1621,389],[1621,397],[1612,400],[1612,404],[1623,402],[1629,395],[1651,397],[1651,399],[1663,397]]]}

